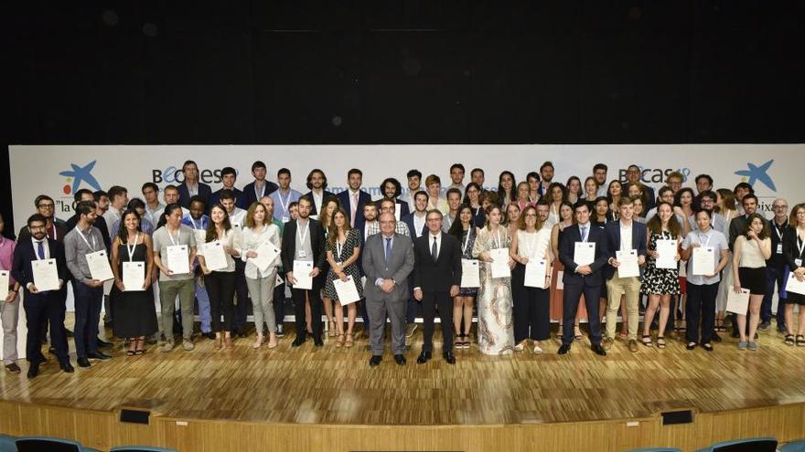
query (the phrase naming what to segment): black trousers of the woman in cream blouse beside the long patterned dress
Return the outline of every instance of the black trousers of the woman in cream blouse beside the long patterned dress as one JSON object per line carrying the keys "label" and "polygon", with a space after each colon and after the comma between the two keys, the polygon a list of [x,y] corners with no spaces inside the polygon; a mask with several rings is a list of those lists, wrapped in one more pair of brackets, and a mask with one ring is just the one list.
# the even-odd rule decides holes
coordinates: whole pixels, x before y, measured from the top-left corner
{"label": "black trousers of the woman in cream blouse beside the long patterned dress", "polygon": [[514,342],[528,338],[544,341],[551,337],[551,297],[548,289],[528,288],[525,266],[517,264],[511,271],[511,296],[514,301]]}

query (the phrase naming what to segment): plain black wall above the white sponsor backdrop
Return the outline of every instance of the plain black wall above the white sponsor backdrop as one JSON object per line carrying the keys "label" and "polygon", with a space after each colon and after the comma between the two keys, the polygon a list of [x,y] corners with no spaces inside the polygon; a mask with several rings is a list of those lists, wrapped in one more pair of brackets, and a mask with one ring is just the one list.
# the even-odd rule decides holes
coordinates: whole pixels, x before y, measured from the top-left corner
{"label": "plain black wall above the white sponsor backdrop", "polygon": [[3,129],[6,144],[803,142],[803,13],[761,0],[9,2]]}

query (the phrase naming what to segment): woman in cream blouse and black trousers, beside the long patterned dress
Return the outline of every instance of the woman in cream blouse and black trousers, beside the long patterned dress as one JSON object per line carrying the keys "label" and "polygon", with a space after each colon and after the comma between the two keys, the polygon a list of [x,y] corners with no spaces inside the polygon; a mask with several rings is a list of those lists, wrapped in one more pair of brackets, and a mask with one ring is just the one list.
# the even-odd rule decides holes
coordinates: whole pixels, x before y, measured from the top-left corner
{"label": "woman in cream blouse and black trousers, beside the long patterned dress", "polygon": [[519,226],[510,248],[510,257],[517,263],[511,272],[514,350],[522,351],[531,338],[533,352],[542,353],[540,341],[551,336],[551,230],[542,227],[533,205],[523,210]]}

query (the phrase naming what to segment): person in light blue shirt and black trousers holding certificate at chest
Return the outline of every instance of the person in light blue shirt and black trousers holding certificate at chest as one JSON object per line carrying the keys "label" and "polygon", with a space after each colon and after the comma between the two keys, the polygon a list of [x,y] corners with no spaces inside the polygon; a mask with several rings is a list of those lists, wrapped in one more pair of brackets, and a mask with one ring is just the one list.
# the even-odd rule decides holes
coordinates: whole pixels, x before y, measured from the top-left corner
{"label": "person in light blue shirt and black trousers holding certificate at chest", "polygon": [[682,260],[688,261],[687,291],[685,306],[687,321],[686,348],[693,350],[699,342],[704,350],[713,351],[713,327],[715,324],[715,297],[718,295],[719,273],[726,267],[729,247],[721,231],[711,226],[711,212],[696,212],[697,229],[682,242]]}

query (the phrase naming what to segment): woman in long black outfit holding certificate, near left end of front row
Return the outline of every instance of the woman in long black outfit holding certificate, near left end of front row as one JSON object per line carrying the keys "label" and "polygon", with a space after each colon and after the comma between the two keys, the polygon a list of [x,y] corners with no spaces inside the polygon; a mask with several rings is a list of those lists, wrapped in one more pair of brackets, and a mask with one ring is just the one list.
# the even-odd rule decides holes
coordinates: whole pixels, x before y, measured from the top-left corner
{"label": "woman in long black outfit holding certificate, near left end of front row", "polygon": [[151,290],[154,253],[151,237],[143,232],[136,210],[123,212],[120,223],[123,226],[118,228],[112,243],[113,331],[119,338],[128,338],[126,355],[133,356],[145,353],[145,336],[157,330]]}

